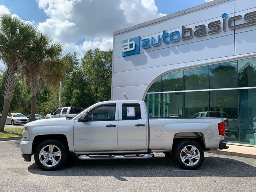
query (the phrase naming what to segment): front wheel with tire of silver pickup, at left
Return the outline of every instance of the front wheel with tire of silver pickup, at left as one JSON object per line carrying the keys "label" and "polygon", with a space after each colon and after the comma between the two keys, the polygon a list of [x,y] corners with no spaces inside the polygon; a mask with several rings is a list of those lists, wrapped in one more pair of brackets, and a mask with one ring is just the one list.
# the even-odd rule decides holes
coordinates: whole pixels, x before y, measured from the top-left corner
{"label": "front wheel with tire of silver pickup, at left", "polygon": [[55,170],[64,165],[68,158],[66,146],[58,140],[46,140],[35,150],[34,160],[43,170]]}

